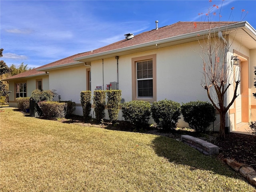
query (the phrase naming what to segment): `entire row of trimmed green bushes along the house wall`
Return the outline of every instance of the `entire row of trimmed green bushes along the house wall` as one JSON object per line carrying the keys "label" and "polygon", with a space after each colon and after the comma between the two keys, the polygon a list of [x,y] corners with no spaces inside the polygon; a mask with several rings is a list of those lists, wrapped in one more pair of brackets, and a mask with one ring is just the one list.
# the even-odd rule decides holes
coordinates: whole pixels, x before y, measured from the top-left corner
{"label": "entire row of trimmed green bushes along the house wall", "polygon": [[[17,98],[18,108],[25,111],[30,107],[30,100],[34,100],[38,105],[37,110],[41,110],[46,118],[69,117],[75,110],[76,103],[72,101],[53,102],[56,95],[54,90],[34,90],[31,98]],[[93,104],[96,121],[100,123],[105,117],[105,106],[107,98],[107,109],[110,122],[118,120],[119,105],[121,101],[121,90],[96,90],[94,91]],[[83,108],[84,121],[91,119],[91,91],[82,91],[80,100]],[[188,102],[180,105],[172,100],[160,100],[150,105],[146,101],[130,101],[122,104],[122,116],[124,120],[131,122],[137,129],[148,127],[150,116],[157,126],[165,131],[176,128],[176,124],[182,114],[184,121],[196,132],[205,132],[210,124],[216,120],[215,108],[209,102]]]}

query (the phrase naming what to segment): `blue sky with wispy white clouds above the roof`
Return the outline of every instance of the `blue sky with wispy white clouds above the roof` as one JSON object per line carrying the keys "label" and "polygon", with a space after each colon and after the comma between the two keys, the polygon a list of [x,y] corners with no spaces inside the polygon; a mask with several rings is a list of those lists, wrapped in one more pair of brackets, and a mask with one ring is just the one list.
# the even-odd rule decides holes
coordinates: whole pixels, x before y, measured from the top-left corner
{"label": "blue sky with wispy white clouds above the roof", "polygon": [[8,66],[42,66],[152,30],[156,20],[158,27],[201,21],[198,13],[222,3],[221,20],[246,20],[256,29],[256,0],[0,0],[2,60]]}

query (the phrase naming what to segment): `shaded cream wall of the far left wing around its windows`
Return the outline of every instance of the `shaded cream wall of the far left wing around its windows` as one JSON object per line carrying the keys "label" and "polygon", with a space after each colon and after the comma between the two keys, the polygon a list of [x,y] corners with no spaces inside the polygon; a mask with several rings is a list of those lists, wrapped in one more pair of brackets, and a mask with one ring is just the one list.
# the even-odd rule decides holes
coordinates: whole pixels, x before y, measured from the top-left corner
{"label": "shaded cream wall of the far left wing around its windows", "polygon": [[24,78],[21,80],[13,80],[13,81],[9,81],[9,90],[11,91],[10,95],[9,95],[9,106],[10,107],[17,107],[17,103],[15,101],[16,99],[16,83],[24,83],[26,82],[26,88],[27,88],[27,97],[31,96],[31,92],[34,91],[36,89],[36,81],[40,79],[42,80],[42,88],[44,90],[48,90],[49,89],[49,76],[48,75],[44,75],[44,76],[36,76],[33,78]]}

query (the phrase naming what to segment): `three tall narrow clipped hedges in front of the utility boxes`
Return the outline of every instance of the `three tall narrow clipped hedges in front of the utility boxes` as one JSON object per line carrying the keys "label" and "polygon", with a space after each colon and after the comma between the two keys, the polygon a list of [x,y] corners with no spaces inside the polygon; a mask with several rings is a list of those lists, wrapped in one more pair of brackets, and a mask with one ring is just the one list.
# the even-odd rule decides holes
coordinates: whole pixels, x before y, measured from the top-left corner
{"label": "three tall narrow clipped hedges in front of the utility boxes", "polygon": [[[95,90],[93,96],[94,112],[96,121],[99,123],[105,117],[105,105],[107,98],[107,108],[109,120],[115,123],[118,120],[119,105],[121,102],[121,90]],[[80,101],[83,108],[84,121],[88,122],[91,118],[91,91],[82,91]]]}

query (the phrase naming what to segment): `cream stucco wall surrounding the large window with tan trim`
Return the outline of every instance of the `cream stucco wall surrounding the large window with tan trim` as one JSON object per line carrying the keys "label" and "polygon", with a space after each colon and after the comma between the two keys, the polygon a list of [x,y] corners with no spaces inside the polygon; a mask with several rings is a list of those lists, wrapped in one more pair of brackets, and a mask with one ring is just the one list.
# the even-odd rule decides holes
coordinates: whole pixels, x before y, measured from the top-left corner
{"label": "cream stucco wall surrounding the large window with tan trim", "polygon": [[[206,91],[201,86],[202,59],[196,52],[200,52],[198,42],[191,42],[120,56],[118,85],[122,90],[122,98],[126,102],[132,100],[132,58],[156,54],[157,101],[165,98],[180,104],[196,100],[209,101]],[[105,90],[106,84],[117,81],[117,61],[114,57],[91,62],[91,65],[92,91],[96,86],[103,86]],[[121,114],[122,112],[119,120],[122,120]],[[150,123],[153,121],[150,120]],[[188,127],[188,124],[181,119],[178,126]],[[218,130],[217,127],[214,130]]]}

